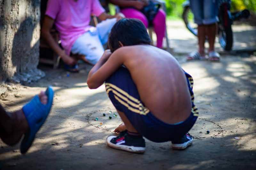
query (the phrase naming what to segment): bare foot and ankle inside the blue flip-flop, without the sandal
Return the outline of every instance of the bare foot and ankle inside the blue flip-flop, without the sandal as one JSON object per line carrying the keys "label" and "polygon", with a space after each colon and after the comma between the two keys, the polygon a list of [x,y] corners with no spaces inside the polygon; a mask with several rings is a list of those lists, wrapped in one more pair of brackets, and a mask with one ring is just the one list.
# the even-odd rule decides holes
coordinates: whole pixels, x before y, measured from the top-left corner
{"label": "bare foot and ankle inside the blue flip-flop, without the sandal", "polygon": [[[44,92],[39,94],[40,101],[47,103],[47,96]],[[0,138],[8,145],[17,144],[22,135],[29,130],[27,119],[20,109],[13,113],[8,113],[0,105]]]}

